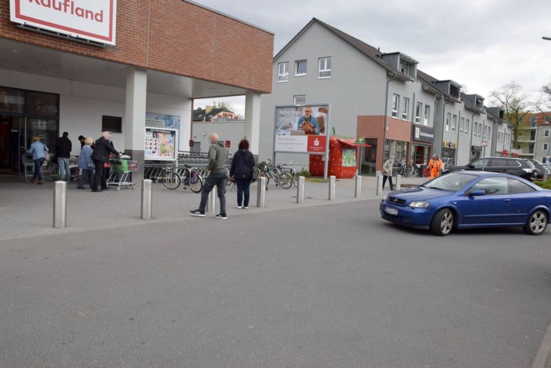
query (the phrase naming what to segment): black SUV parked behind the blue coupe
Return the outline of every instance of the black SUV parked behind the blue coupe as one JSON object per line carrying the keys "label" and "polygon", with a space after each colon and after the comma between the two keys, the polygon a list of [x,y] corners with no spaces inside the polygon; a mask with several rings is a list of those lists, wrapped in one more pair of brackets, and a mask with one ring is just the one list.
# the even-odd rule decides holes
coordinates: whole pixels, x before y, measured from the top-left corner
{"label": "black SUV parked behind the blue coupe", "polygon": [[533,181],[536,179],[536,168],[532,162],[524,158],[512,157],[490,157],[479,158],[465,166],[453,166],[445,169],[444,173],[453,173],[455,171],[492,171],[494,173],[504,173],[522,177],[523,179]]}

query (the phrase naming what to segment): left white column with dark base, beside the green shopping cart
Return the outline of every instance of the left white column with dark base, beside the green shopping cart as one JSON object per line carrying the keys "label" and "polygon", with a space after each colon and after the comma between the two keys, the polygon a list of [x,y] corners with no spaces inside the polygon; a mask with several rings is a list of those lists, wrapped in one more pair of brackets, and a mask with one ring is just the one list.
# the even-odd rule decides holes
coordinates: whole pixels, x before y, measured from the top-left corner
{"label": "left white column with dark base, beside the green shopping cart", "polygon": [[[145,105],[147,103],[147,71],[128,67],[126,69],[125,103],[125,153],[137,160],[138,171],[132,173],[132,182],[141,183],[144,166]],[[122,147],[115,147],[122,149]]]}

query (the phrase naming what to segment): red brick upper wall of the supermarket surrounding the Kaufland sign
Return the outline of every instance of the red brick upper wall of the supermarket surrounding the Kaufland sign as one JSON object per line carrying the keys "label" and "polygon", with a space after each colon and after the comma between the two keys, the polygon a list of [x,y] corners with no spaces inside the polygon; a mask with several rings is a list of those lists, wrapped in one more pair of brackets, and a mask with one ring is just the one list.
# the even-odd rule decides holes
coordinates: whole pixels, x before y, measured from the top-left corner
{"label": "red brick upper wall of the supermarket surrounding the Kaufland sign", "polygon": [[273,34],[183,0],[119,0],[115,48],[18,28],[0,0],[0,38],[271,92]]}

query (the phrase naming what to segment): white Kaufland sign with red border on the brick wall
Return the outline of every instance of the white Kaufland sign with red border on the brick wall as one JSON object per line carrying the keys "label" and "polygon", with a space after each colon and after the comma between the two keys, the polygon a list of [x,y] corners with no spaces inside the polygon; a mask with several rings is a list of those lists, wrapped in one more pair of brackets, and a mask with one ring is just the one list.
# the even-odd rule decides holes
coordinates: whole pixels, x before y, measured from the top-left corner
{"label": "white Kaufland sign with red border on the brick wall", "polygon": [[10,0],[12,22],[115,45],[116,0]]}

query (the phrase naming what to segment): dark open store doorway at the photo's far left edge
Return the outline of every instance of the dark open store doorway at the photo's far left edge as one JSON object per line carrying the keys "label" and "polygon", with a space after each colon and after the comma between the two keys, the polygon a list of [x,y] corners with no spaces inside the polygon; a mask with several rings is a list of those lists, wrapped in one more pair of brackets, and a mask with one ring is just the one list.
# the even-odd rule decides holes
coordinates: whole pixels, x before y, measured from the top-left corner
{"label": "dark open store doorway at the photo's far left edge", "polygon": [[25,146],[25,118],[0,115],[0,173],[19,174]]}

